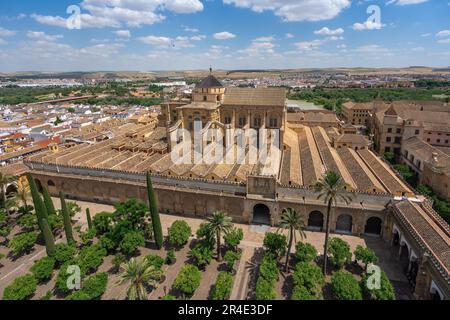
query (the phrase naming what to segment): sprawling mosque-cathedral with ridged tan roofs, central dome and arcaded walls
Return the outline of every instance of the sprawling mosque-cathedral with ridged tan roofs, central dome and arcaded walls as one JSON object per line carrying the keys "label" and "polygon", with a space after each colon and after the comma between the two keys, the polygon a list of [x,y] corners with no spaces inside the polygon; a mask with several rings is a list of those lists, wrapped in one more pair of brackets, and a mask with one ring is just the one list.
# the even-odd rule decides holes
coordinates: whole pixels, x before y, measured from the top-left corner
{"label": "sprawling mosque-cathedral with ridged tan roofs, central dome and arcaded walls", "polygon": [[[171,136],[180,128],[192,131],[196,122],[202,130],[279,130],[276,170],[249,162],[174,163]],[[24,163],[54,195],[63,191],[72,199],[103,203],[146,201],[150,172],[163,213],[203,218],[222,210],[235,222],[277,225],[282,210],[291,207],[317,231],[325,227],[326,205],[310,186],[332,170],[347,183],[353,201],[332,210],[331,232],[381,237],[398,254],[417,298],[450,299],[448,224],[364,136],[334,114],[288,113],[283,88],[225,88],[210,75],[189,101],[168,101],[158,118],[121,122],[108,128],[107,136],[53,146]],[[245,149],[246,158],[249,153]]]}

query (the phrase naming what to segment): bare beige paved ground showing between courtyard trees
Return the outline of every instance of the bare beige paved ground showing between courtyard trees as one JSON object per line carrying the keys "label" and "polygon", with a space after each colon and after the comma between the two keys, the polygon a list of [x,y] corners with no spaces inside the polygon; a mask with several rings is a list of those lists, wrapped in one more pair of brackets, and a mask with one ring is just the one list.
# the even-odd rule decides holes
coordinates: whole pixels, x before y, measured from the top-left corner
{"label": "bare beige paved ground showing between courtyard trees", "polygon": [[[60,207],[59,199],[54,198],[55,207],[58,209]],[[82,226],[82,228],[87,227],[85,209],[89,208],[91,215],[94,216],[96,213],[101,211],[113,211],[114,208],[110,205],[90,203],[84,201],[76,201],[78,205],[82,208],[81,213],[75,216],[76,225]],[[164,234],[167,234],[167,229],[175,221],[183,219],[192,228],[193,233],[198,229],[199,225],[204,221],[202,219],[180,217],[174,215],[161,214],[161,223]],[[262,247],[264,235],[268,231],[277,231],[277,228],[264,227],[264,226],[254,226],[245,224],[235,224],[236,227],[242,228],[244,230],[244,240],[241,242],[242,257],[237,265],[237,271],[234,278],[234,285],[231,294],[231,299],[252,299],[254,298],[254,284],[256,282],[256,270],[257,266],[262,257]],[[314,245],[319,254],[323,253],[324,244],[324,233],[321,232],[310,232],[306,231],[306,238],[303,240]],[[351,250],[353,251],[357,245],[368,246],[375,250],[379,257],[380,267],[387,273],[389,279],[394,284],[397,292],[398,299],[410,299],[410,289],[407,283],[406,277],[400,270],[400,264],[398,263],[398,258],[394,252],[390,249],[390,246],[383,242],[379,238],[374,237],[356,237],[351,235],[337,235],[333,234],[333,237],[340,237],[350,244]],[[299,239],[297,239],[299,240]],[[57,241],[65,241],[59,238]],[[6,248],[0,247],[0,252],[6,251]],[[165,281],[153,290],[149,294],[150,299],[159,299],[167,293],[170,293],[172,283],[177,275],[178,270],[187,262],[187,253],[189,247],[185,246],[183,249],[176,252],[177,261],[174,265],[164,266],[165,268]],[[165,257],[165,250],[163,252],[157,251],[149,248],[142,248],[141,255],[148,255],[150,253],[159,254]],[[45,248],[42,245],[36,245],[32,253],[22,256],[15,261],[7,261],[4,263],[4,267],[0,268],[0,293],[3,292],[4,288],[17,276],[22,275],[27,272],[29,268],[33,265],[34,261],[45,256]],[[111,268],[112,257],[108,256],[105,258],[104,263],[99,268],[99,272],[108,271]],[[212,286],[216,281],[216,277],[220,270],[219,264],[213,260],[210,265],[208,265],[202,272],[202,280],[199,289],[196,291],[193,299],[208,299],[211,294]],[[47,284],[40,286],[35,298],[42,297],[48,290],[54,287],[54,279],[49,281]],[[283,278],[283,275],[282,275]],[[126,297],[126,286],[117,285],[118,274],[110,275],[108,281],[108,290],[103,296],[103,299],[124,299]],[[285,292],[287,289],[284,287],[284,279],[280,280],[278,286],[278,296],[281,299],[287,299]]]}

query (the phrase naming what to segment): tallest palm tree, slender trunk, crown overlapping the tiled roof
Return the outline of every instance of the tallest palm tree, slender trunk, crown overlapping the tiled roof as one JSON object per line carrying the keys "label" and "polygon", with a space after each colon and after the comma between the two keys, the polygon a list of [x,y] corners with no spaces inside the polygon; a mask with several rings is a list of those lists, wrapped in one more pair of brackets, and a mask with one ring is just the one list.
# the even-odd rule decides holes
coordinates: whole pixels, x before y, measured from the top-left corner
{"label": "tallest palm tree, slender trunk, crown overlapping the tiled roof", "polygon": [[318,193],[317,199],[323,199],[327,205],[327,220],[325,227],[325,245],[323,252],[323,274],[327,274],[327,260],[328,260],[328,239],[330,236],[330,213],[331,207],[336,205],[339,200],[349,204],[352,201],[352,196],[347,194],[347,184],[342,177],[333,171],[328,171],[316,184],[313,186],[314,191]]}

